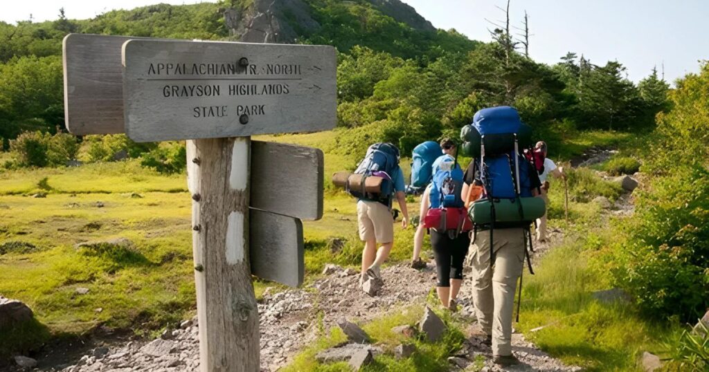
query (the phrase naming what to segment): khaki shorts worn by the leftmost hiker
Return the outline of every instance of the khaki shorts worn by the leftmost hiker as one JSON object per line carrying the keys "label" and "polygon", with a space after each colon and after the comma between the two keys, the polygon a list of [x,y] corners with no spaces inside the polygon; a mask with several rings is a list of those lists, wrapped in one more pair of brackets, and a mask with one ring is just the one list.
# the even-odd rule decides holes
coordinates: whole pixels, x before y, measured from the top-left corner
{"label": "khaki shorts worn by the leftmost hiker", "polygon": [[357,226],[363,242],[376,238],[377,243],[394,241],[394,217],[391,210],[376,201],[357,202]]}

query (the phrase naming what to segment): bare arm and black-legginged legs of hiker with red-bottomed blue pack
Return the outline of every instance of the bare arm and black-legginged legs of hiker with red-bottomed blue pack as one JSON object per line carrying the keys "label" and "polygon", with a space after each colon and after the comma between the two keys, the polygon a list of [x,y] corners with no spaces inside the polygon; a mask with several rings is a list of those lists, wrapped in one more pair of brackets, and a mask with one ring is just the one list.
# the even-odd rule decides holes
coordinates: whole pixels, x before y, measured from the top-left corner
{"label": "bare arm and black-legginged legs of hiker with red-bottomed blue pack", "polygon": [[[428,195],[431,186],[429,185],[423,193],[421,220],[428,213],[430,205]],[[468,232],[460,232],[457,237],[450,237],[447,232],[437,232],[434,229],[430,229],[430,236],[433,257],[436,260],[438,300],[445,308],[455,311],[457,310],[455,299],[463,283],[463,261],[468,254],[470,238]]]}

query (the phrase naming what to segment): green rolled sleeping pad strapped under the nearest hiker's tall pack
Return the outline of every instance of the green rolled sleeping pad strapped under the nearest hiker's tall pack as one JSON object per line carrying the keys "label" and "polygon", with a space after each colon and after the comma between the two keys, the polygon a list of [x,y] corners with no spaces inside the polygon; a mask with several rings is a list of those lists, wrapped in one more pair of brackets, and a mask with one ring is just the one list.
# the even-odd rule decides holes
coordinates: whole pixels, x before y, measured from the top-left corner
{"label": "green rolled sleeping pad strapped under the nearest hiker's tall pack", "polygon": [[[520,215],[520,205],[524,216]],[[544,215],[547,206],[542,198],[495,199],[495,222],[532,222]],[[472,203],[468,208],[470,219],[476,224],[492,222],[492,210],[488,199]]]}

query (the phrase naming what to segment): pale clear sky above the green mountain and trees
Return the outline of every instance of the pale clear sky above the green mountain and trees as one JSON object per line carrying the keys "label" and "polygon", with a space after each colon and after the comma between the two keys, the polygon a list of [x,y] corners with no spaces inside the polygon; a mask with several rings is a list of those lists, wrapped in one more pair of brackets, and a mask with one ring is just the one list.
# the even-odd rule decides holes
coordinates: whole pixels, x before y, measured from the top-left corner
{"label": "pale clear sky above the green mountain and trees", "polygon": [[[505,0],[402,0],[437,28],[455,28],[474,40],[490,41],[486,19],[500,21],[496,6]],[[93,18],[113,9],[133,9],[156,3],[194,4],[199,0],[4,0],[0,21],[15,23],[58,18]],[[213,2],[213,1],[212,1]],[[640,81],[653,67],[667,81],[698,72],[699,60],[709,60],[709,1],[706,0],[511,0],[510,23],[521,27],[529,15],[530,56],[554,64],[566,52],[576,52],[593,64],[618,60],[627,77]]]}

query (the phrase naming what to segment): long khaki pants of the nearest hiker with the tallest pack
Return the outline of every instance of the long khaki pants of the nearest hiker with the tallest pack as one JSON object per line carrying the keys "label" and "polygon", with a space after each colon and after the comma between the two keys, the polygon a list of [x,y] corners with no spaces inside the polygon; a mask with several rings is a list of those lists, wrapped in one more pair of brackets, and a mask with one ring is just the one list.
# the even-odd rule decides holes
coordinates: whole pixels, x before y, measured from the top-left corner
{"label": "long khaki pants of the nearest hiker with the tallest pack", "polygon": [[512,354],[515,288],[525,259],[523,232],[521,228],[494,230],[492,266],[490,231],[478,232],[470,244],[475,312],[483,331],[492,335],[495,356]]}

